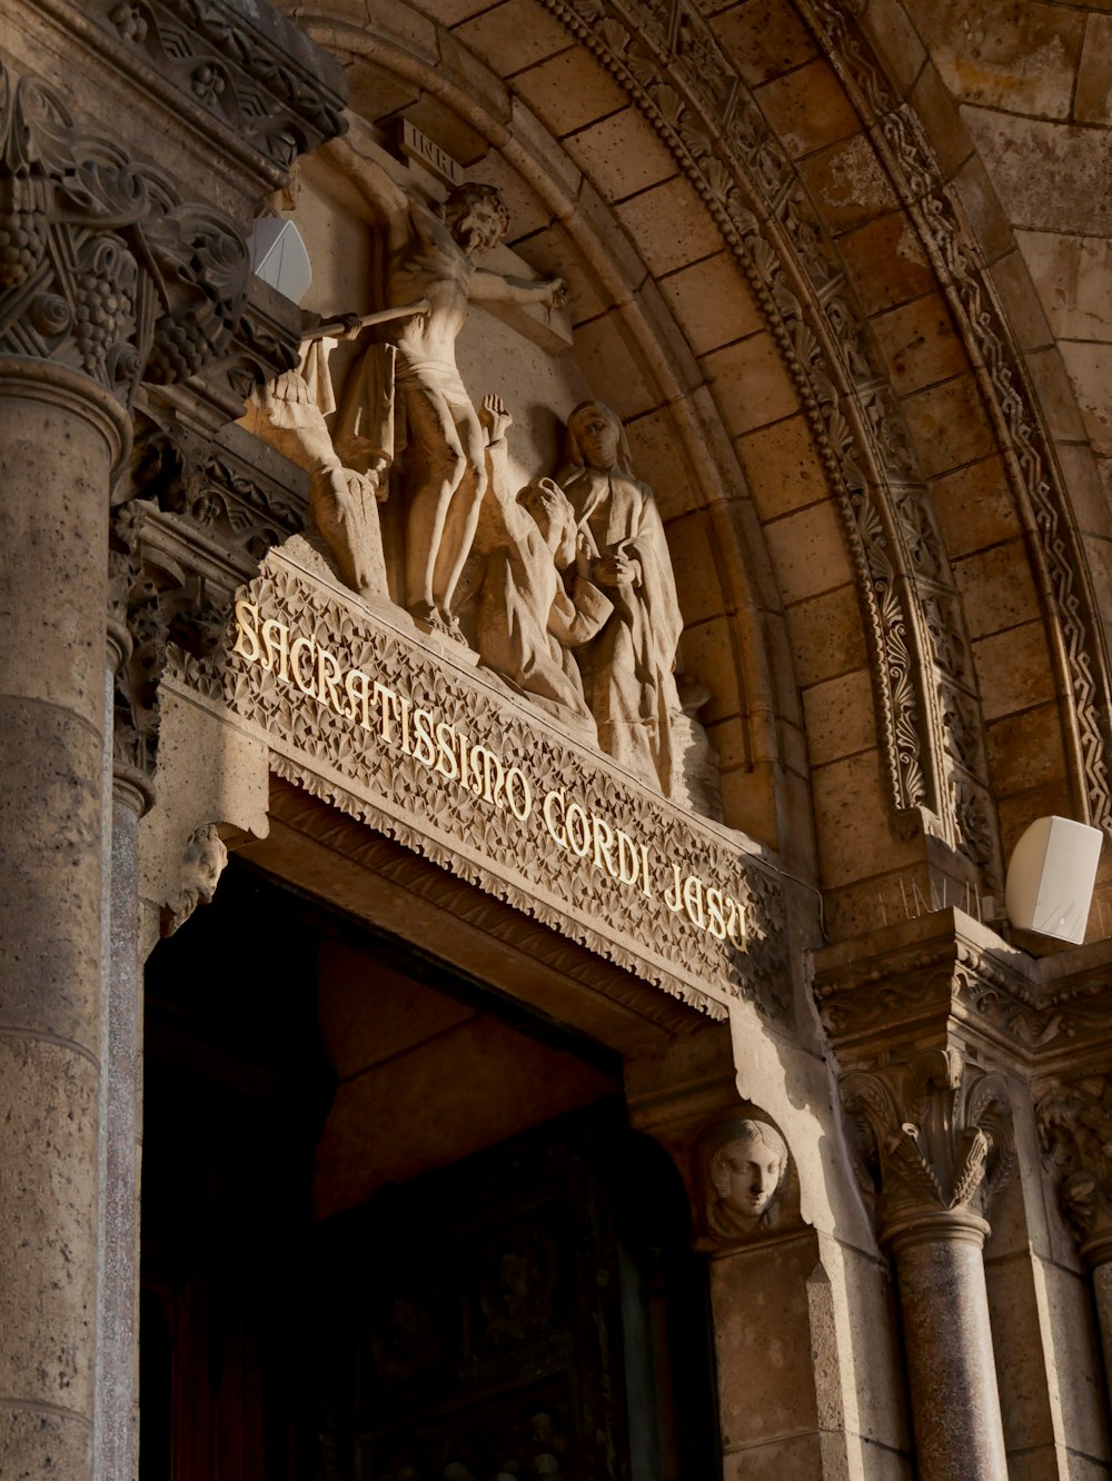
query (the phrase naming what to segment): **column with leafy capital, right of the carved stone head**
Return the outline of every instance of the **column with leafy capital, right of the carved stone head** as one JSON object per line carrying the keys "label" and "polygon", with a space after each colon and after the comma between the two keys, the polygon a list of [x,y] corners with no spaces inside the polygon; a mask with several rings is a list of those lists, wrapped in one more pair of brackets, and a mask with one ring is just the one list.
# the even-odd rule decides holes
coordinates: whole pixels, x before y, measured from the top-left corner
{"label": "column with leafy capital, right of the carved stone head", "polygon": [[843,1077],[896,1263],[921,1481],[1007,1481],[983,1213],[1013,1163],[1007,1087],[957,1049]]}

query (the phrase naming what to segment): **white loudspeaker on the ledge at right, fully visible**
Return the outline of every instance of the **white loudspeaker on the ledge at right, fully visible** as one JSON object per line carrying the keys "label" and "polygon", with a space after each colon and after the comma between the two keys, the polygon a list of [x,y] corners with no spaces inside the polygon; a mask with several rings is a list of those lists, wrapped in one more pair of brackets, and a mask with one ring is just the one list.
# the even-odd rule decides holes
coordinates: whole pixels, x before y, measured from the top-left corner
{"label": "white loudspeaker on the ledge at right, fully visible", "polygon": [[1011,924],[1084,940],[1103,840],[1099,828],[1069,818],[1038,818],[1011,853],[1004,886]]}

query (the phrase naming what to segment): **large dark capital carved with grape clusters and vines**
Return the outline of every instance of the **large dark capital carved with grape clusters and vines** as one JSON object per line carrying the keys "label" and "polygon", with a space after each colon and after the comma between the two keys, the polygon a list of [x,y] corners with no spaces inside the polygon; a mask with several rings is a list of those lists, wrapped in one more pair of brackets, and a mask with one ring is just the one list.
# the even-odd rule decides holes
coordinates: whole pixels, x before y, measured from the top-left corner
{"label": "large dark capital carved with grape clusters and vines", "polygon": [[0,352],[130,406],[141,379],[185,379],[227,347],[247,274],[228,221],[0,64]]}

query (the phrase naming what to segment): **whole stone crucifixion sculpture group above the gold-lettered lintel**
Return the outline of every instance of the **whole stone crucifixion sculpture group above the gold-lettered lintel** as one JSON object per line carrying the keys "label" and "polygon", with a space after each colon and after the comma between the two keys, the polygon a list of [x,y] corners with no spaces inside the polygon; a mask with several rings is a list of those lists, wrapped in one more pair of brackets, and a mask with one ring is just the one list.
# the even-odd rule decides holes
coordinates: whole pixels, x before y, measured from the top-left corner
{"label": "whole stone crucifixion sculpture group above the gold-lettered lintel", "polygon": [[[709,695],[687,675],[677,684],[683,616],[665,526],[620,418],[583,400],[552,465],[517,487],[514,407],[474,394],[456,364],[471,304],[548,311],[567,302],[566,284],[480,265],[509,231],[495,187],[426,201],[355,150],[338,153],[385,222],[385,304],[329,323],[305,314],[301,366],[256,392],[252,429],[309,474],[312,521],[349,588],[392,597],[640,780],[717,816],[696,720]],[[338,406],[329,352],[344,338],[370,342]],[[404,509],[392,570],[386,499]]]}

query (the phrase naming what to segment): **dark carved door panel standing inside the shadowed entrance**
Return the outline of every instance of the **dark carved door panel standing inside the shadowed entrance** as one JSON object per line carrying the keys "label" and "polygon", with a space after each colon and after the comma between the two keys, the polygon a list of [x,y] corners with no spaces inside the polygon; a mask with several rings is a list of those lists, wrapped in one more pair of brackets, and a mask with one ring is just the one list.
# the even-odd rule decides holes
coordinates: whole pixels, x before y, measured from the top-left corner
{"label": "dark carved door panel standing inside the shadowed entrance", "polygon": [[575,1112],[323,1226],[326,1477],[632,1475],[623,1327],[646,1324],[614,1228],[625,1134],[620,1108]]}

